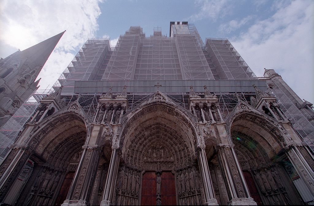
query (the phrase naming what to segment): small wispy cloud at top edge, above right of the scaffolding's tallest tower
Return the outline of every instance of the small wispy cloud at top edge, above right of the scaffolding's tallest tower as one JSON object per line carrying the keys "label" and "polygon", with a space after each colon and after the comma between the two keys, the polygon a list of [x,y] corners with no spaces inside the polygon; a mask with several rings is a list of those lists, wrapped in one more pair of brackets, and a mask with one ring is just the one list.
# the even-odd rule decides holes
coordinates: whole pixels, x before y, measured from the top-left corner
{"label": "small wispy cloud at top edge, above right of the scaffolding's tallest tower", "polygon": [[203,18],[215,20],[218,16],[224,16],[226,11],[229,10],[227,0],[198,0],[196,4],[201,7],[201,10],[188,18],[193,22]]}

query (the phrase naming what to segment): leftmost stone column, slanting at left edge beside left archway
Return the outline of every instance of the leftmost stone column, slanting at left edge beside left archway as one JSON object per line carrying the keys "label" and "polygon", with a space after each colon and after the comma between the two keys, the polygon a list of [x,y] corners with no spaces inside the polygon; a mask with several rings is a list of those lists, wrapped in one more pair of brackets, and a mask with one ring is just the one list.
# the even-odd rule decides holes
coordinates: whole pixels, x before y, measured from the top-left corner
{"label": "leftmost stone column, slanting at left edge beside left archway", "polygon": [[3,201],[29,156],[30,151],[27,148],[14,148],[2,162],[0,166],[0,202]]}

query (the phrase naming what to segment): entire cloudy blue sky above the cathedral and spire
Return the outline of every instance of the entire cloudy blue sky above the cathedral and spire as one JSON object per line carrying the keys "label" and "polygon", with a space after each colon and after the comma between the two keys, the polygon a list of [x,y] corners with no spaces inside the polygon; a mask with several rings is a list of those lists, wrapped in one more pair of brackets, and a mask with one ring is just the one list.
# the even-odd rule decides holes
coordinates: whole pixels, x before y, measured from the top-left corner
{"label": "entire cloudy blue sky above the cathedral and spire", "polygon": [[43,67],[50,88],[88,38],[110,37],[141,26],[146,36],[170,21],[195,24],[203,39],[228,38],[254,73],[275,69],[301,97],[314,103],[314,1],[2,0],[0,57],[67,30]]}

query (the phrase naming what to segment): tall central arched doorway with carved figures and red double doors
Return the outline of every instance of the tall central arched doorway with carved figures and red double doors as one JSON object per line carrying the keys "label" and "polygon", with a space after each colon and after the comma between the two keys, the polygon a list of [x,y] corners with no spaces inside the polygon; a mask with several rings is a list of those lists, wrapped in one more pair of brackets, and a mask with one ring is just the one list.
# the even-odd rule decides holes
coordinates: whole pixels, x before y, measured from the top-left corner
{"label": "tall central arched doorway with carved figures and red double doors", "polygon": [[122,131],[115,205],[198,205],[202,187],[196,134],[178,108],[154,102]]}

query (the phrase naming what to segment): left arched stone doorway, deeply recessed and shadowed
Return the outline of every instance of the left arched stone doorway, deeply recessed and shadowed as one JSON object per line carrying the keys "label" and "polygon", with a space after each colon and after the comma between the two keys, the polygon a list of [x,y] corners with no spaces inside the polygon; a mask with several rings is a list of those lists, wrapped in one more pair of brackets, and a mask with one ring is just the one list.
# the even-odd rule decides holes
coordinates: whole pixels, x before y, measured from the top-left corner
{"label": "left arched stone doorway, deeply recessed and shadowed", "polygon": [[34,169],[18,205],[62,204],[81,159],[87,129],[80,116],[65,113],[42,124],[28,142]]}

